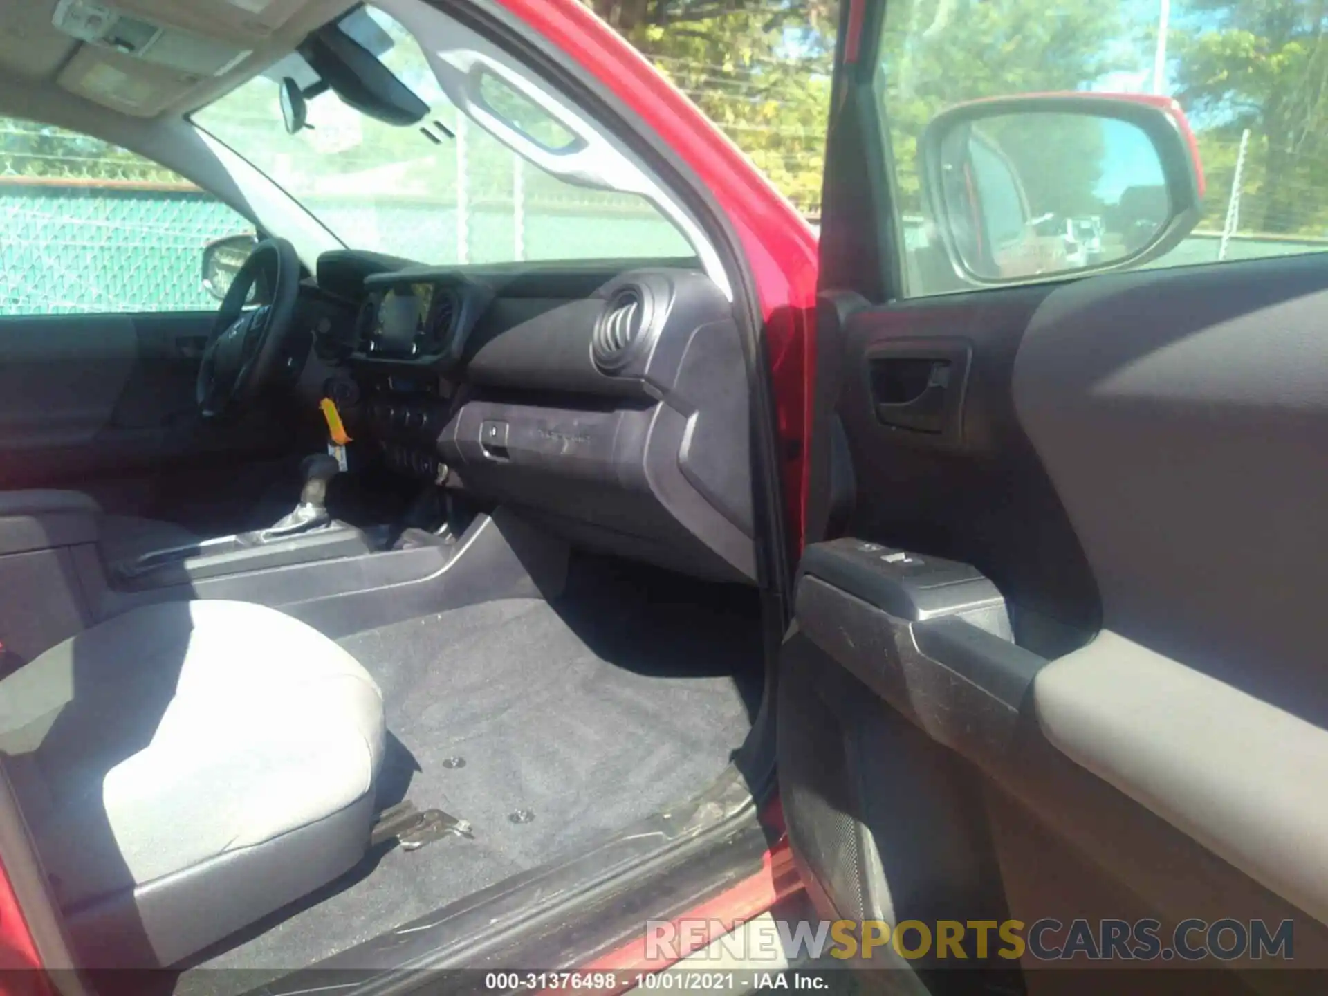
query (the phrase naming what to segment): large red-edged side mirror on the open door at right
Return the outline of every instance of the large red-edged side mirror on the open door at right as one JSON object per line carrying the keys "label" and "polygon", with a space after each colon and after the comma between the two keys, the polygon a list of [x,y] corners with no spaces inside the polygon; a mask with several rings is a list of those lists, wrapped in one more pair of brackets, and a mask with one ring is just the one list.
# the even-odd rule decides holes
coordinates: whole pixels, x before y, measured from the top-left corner
{"label": "large red-edged side mirror on the open door at right", "polygon": [[1174,101],[1046,94],[961,104],[919,143],[955,271],[1001,284],[1161,256],[1198,223],[1203,174]]}

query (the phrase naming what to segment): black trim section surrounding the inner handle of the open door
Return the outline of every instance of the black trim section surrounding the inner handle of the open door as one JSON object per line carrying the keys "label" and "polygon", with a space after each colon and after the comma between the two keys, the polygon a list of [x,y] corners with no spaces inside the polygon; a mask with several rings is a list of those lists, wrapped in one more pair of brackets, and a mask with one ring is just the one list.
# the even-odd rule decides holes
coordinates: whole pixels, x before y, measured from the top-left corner
{"label": "black trim section surrounding the inner handle of the open door", "polygon": [[[1084,551],[1011,392],[1020,339],[1048,293],[1028,287],[859,311],[842,333],[835,413],[859,495],[847,534],[888,535],[894,546],[972,563],[1005,595],[1021,640],[1054,655],[1085,643],[1100,610]],[[943,348],[959,339],[971,352],[967,380],[947,386],[963,396],[954,441],[882,422],[872,397],[874,357],[896,343],[916,349],[934,339]]]}

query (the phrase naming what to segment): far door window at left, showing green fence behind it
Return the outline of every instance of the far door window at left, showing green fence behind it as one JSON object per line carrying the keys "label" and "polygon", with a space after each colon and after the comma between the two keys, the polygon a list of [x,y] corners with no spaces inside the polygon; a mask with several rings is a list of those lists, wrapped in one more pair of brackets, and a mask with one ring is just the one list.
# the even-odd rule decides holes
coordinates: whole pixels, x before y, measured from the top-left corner
{"label": "far door window at left, showing green fence behind it", "polygon": [[203,247],[246,231],[150,159],[0,117],[0,315],[215,311]]}

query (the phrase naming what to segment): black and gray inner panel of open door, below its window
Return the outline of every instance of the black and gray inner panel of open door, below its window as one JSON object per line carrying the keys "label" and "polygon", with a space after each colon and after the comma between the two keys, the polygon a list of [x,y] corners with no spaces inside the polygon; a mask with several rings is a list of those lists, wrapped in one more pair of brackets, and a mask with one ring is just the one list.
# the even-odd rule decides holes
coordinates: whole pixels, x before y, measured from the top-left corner
{"label": "black and gray inner panel of open door, below its window", "polygon": [[[1291,919],[1293,964],[1328,965],[1325,304],[1313,258],[863,303],[839,323],[823,303],[843,535],[971,564],[1013,637],[975,637],[968,604],[891,607],[819,563],[835,543],[805,554],[781,782],[827,912],[935,919],[882,899],[931,888],[947,918],[1153,916],[1165,938],[1186,918]],[[956,337],[959,438],[883,424],[872,363]],[[899,722],[907,749],[863,748]],[[955,793],[981,802],[946,807],[947,838],[926,814]],[[956,866],[955,835],[993,866]]]}

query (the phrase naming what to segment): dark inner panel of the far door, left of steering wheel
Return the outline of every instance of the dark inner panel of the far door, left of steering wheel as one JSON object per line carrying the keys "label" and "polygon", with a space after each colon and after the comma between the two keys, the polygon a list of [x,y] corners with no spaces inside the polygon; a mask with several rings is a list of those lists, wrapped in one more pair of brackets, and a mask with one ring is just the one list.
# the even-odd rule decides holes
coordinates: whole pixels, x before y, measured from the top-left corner
{"label": "dark inner panel of the far door, left of steering wheel", "polygon": [[81,490],[108,511],[199,527],[243,519],[301,450],[303,422],[258,409],[231,425],[199,420],[194,381],[214,320],[0,317],[0,490]]}

